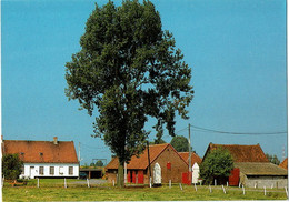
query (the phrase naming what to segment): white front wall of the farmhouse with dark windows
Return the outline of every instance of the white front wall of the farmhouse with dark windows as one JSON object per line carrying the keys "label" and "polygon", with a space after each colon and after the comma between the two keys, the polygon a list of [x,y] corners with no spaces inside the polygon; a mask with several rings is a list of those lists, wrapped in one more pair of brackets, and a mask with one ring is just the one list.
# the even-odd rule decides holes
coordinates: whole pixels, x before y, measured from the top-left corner
{"label": "white front wall of the farmhouse with dark windows", "polygon": [[[34,166],[34,168],[31,168]],[[43,166],[43,174],[39,174],[40,166]],[[50,174],[50,166],[54,166],[54,174]],[[73,174],[69,174],[69,166],[73,168]],[[24,163],[24,173],[20,178],[34,179],[38,176],[57,176],[57,178],[78,178],[79,164],[73,163]]]}

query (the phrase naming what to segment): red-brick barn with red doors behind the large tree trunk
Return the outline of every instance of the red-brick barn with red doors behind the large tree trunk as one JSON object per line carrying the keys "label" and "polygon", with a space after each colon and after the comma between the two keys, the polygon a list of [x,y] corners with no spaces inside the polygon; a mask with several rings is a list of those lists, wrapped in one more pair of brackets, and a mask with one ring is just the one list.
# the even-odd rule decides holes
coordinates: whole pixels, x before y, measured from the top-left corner
{"label": "red-brick barn with red doors behind the large tree trunk", "polygon": [[[156,180],[156,168],[160,168],[161,183],[181,182],[182,172],[188,172],[188,163],[180,156],[169,143],[155,144],[149,147],[150,166],[148,160],[148,148],[137,158],[133,155],[127,164],[127,182],[128,183],[149,183],[149,168],[151,169],[152,182]],[[109,182],[117,182],[119,161],[113,158],[106,166],[106,175]]]}

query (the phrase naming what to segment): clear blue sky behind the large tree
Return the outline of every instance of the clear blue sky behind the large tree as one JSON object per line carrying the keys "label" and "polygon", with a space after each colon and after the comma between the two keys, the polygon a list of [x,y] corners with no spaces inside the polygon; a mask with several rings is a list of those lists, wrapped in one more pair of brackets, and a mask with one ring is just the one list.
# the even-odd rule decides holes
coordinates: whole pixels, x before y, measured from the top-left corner
{"label": "clear blue sky behind the large tree", "polygon": [[[108,159],[91,138],[93,118],[64,95],[64,64],[94,9],[90,0],[4,0],[2,26],[2,133],[6,140],[81,142],[83,163]],[[107,1],[97,1],[102,6]],[[287,131],[285,0],[153,0],[192,68],[193,125],[235,132]],[[117,3],[119,6],[119,2]],[[151,121],[147,129],[151,129]],[[152,130],[152,129],[151,129]],[[153,139],[153,132],[150,139]],[[165,134],[168,134],[167,131]],[[188,135],[187,130],[178,134]],[[166,141],[171,138],[166,135]],[[287,134],[237,135],[192,130],[202,158],[209,142],[257,144],[282,158]],[[287,155],[287,154],[286,154]]]}

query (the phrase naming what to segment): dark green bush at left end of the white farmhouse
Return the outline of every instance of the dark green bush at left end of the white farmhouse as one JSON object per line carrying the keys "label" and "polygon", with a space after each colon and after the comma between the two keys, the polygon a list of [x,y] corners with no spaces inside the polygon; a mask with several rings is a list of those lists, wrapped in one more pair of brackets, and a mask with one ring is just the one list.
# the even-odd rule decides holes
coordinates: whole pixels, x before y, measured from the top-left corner
{"label": "dark green bush at left end of the white farmhouse", "polygon": [[6,179],[16,180],[21,174],[23,162],[20,161],[18,153],[4,154],[2,156],[2,174]]}

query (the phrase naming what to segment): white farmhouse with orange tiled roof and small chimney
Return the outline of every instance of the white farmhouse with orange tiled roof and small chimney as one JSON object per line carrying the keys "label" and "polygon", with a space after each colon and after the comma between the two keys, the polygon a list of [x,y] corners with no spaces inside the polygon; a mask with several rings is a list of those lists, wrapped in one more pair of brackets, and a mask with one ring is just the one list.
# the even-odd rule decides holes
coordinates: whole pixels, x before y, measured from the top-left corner
{"label": "white farmhouse with orange tiled roof and small chimney", "polygon": [[79,161],[73,141],[3,140],[3,154],[18,153],[23,161],[20,178],[78,178]]}

